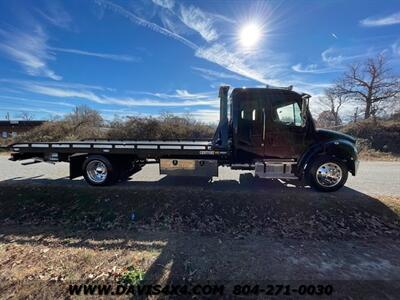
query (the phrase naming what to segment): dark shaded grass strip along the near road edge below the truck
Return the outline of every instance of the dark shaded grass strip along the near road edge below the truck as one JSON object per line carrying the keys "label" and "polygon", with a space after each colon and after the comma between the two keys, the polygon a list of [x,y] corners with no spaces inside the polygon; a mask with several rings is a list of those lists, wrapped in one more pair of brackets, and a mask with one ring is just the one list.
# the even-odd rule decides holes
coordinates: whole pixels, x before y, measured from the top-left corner
{"label": "dark shaded grass strip along the near road edge below the truck", "polygon": [[0,224],[316,238],[367,238],[398,225],[398,216],[380,199],[345,190],[324,194],[297,188],[268,196],[257,191],[250,201],[240,190],[10,185],[0,189]]}

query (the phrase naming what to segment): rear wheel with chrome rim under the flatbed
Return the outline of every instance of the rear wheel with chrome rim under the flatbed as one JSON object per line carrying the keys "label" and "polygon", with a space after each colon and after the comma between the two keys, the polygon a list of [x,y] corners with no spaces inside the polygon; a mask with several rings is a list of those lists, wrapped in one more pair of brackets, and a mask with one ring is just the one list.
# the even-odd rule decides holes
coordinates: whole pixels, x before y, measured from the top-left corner
{"label": "rear wheel with chrome rim under the flatbed", "polygon": [[91,155],[83,163],[83,177],[93,186],[106,186],[115,183],[118,171],[111,161],[101,155]]}

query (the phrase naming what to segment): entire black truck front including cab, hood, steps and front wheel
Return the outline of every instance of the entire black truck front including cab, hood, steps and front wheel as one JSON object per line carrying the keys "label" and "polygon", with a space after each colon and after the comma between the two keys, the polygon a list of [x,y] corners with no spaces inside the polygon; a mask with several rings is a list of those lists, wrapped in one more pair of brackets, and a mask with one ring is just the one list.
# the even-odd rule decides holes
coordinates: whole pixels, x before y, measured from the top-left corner
{"label": "entire black truck front including cab, hood, steps and front wheel", "polygon": [[356,141],[316,129],[309,98],[291,88],[235,88],[228,104],[232,161],[254,165],[259,177],[305,177],[323,191],[340,188],[347,172],[356,174]]}

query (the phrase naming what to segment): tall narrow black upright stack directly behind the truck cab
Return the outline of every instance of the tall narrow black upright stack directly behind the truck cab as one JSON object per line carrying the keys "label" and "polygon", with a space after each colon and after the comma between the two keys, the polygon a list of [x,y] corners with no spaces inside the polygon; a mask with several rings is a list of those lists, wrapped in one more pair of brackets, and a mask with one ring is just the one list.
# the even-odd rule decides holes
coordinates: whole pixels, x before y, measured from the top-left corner
{"label": "tall narrow black upright stack directly behind the truck cab", "polygon": [[229,86],[221,86],[219,88],[219,124],[213,138],[213,145],[216,148],[227,148],[229,137],[228,124],[228,92]]}

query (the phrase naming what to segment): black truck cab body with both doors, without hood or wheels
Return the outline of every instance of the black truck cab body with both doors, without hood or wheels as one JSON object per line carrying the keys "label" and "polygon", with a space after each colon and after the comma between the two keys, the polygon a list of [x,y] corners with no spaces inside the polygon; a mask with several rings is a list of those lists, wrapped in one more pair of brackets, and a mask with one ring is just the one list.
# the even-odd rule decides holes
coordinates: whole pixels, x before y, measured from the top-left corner
{"label": "black truck cab body with both doors, without hood or wheels", "polygon": [[310,116],[303,117],[302,95],[282,89],[241,88],[234,89],[230,98],[238,161],[299,159],[314,143],[315,126]]}

